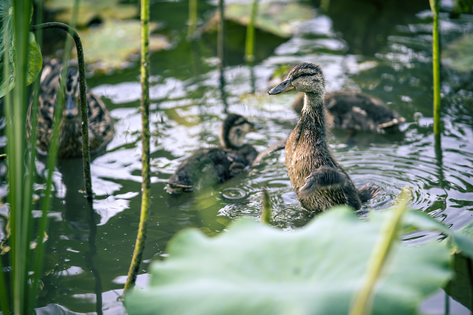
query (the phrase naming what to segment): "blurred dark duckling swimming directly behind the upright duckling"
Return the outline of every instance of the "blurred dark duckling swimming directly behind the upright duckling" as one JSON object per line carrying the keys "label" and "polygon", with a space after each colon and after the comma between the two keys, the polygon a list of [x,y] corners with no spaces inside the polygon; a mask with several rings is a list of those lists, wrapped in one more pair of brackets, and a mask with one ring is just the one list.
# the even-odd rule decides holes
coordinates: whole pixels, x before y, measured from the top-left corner
{"label": "blurred dark duckling swimming directly behind the upright duckling", "polygon": [[[405,122],[404,117],[374,96],[351,91],[327,94],[324,105],[333,116],[336,128],[385,133],[385,128]],[[304,93],[298,93],[292,109],[298,114],[304,106]]]}

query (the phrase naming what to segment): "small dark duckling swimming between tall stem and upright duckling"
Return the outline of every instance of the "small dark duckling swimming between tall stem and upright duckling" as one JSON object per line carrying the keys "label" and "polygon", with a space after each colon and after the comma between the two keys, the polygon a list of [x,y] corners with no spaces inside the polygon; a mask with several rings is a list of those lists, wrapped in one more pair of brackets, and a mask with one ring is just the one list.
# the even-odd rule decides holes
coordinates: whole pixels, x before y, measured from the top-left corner
{"label": "small dark duckling swimming between tall stem and upright duckling", "polygon": [[244,144],[254,124],[237,114],[229,114],[220,127],[220,147],[197,149],[169,178],[169,193],[192,192],[221,183],[251,166],[258,152]]}

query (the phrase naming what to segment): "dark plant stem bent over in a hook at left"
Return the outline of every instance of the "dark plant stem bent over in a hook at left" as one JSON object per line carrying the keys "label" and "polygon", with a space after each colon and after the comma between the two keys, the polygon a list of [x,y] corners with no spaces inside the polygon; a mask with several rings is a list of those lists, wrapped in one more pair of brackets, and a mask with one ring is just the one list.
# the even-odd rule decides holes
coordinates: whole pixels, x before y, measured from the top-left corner
{"label": "dark plant stem bent over in a hook at left", "polygon": [[82,43],[79,35],[69,25],[59,22],[43,23],[30,27],[32,32],[40,29],[61,28],[69,33],[76,43],[77,60],[79,64],[79,90],[80,90],[80,113],[82,118],[82,160],[84,163],[84,184],[85,196],[92,200],[92,179],[90,175],[90,150],[88,143],[88,115],[87,115],[87,96],[86,96],[86,68],[84,63],[84,51],[82,50]]}

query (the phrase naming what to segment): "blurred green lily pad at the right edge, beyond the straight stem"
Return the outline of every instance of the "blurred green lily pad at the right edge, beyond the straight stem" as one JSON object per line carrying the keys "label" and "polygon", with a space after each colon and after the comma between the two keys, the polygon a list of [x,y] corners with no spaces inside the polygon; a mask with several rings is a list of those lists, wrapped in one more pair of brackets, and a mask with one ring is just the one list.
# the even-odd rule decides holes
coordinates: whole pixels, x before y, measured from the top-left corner
{"label": "blurred green lily pad at the right edge, beyond the straight stem", "polygon": [[449,44],[442,53],[442,63],[459,71],[473,70],[473,34]]}

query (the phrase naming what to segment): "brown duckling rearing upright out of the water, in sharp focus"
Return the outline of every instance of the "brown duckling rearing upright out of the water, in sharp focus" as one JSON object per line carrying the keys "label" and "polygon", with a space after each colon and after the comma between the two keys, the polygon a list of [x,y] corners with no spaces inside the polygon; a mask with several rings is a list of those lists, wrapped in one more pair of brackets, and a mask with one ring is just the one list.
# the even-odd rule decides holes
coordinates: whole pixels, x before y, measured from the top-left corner
{"label": "brown duckling rearing upright out of the water, in sharp focus", "polygon": [[356,189],[332,154],[326,139],[327,110],[324,107],[325,77],[322,69],[312,63],[302,63],[268,94],[292,89],[305,93],[301,119],[285,146],[289,179],[300,203],[309,212],[325,211],[338,204],[360,209],[361,203],[377,196],[379,188],[365,185]]}

